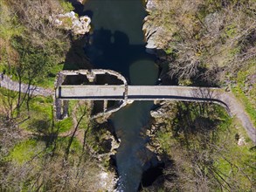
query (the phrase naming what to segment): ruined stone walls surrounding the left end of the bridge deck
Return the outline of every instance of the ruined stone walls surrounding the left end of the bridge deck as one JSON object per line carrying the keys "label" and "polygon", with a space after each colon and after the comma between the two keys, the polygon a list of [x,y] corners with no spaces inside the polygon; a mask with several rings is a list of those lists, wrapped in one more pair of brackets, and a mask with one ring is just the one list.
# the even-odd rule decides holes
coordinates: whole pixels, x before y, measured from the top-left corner
{"label": "ruined stone walls surrounding the left end of the bridge deck", "polygon": [[[72,86],[72,85],[128,85],[127,80],[119,73],[111,70],[93,69],[93,70],[79,70],[79,71],[61,71],[57,74],[55,81],[55,97],[54,97],[54,111],[55,118],[62,120],[68,116],[68,100],[58,99],[56,97],[56,90],[59,86]],[[126,106],[125,100],[120,100],[109,105],[107,99],[100,101],[90,101],[91,106],[95,104],[101,105],[102,110],[92,115],[92,119],[98,118],[102,115],[110,115],[118,111],[121,107]]]}

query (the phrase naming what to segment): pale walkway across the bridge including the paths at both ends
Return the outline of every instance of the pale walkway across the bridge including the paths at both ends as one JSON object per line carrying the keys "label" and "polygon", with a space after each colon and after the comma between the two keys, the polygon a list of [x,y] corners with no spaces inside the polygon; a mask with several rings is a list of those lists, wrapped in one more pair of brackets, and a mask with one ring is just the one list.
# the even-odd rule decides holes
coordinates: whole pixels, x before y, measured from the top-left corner
{"label": "pale walkway across the bridge including the paths at both ends", "polygon": [[[52,91],[38,86],[19,84],[8,76],[1,77],[0,85],[6,89],[31,93],[32,95],[51,96]],[[256,129],[246,113],[245,107],[232,93],[222,89],[190,86],[59,86],[55,93],[56,99],[124,99],[124,100],[184,100],[197,102],[214,102],[224,106],[236,116],[248,136],[256,143]]]}

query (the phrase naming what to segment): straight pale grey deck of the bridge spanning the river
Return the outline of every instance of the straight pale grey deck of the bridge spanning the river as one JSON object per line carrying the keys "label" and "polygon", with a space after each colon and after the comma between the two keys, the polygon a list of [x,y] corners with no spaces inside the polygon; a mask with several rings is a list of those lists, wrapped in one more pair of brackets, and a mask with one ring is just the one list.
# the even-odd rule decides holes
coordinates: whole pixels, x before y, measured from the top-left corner
{"label": "straight pale grey deck of the bridge spanning the river", "polygon": [[[206,90],[206,92],[205,92]],[[211,90],[211,92],[209,92]],[[216,99],[212,91],[216,88],[182,87],[182,86],[59,86],[56,97],[59,99],[133,99],[156,100],[183,98],[211,98]]]}

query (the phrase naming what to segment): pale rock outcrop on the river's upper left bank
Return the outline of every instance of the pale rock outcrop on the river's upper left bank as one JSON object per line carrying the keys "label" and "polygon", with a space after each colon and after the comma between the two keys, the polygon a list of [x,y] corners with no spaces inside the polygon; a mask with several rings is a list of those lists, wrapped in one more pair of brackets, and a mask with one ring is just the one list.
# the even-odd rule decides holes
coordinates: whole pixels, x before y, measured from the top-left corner
{"label": "pale rock outcrop on the river's upper left bank", "polygon": [[78,17],[71,11],[65,14],[52,15],[49,21],[56,27],[73,31],[75,35],[84,35],[91,29],[91,18],[87,16]]}

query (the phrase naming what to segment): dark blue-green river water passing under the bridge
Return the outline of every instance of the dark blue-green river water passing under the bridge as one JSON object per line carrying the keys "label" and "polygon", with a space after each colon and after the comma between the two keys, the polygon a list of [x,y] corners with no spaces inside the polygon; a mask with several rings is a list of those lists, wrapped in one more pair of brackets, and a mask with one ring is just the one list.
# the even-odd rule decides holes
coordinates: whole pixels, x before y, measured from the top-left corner
{"label": "dark blue-green river water passing under the bridge", "polygon": [[[92,17],[93,35],[86,55],[96,68],[121,72],[130,85],[155,85],[158,68],[145,51],[141,0],[88,0],[84,12]],[[116,154],[119,191],[137,191],[148,159],[142,127],[149,121],[151,101],[136,101],[114,113],[111,120],[121,146]]]}

